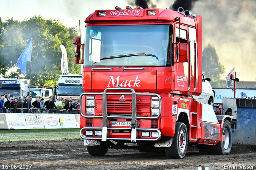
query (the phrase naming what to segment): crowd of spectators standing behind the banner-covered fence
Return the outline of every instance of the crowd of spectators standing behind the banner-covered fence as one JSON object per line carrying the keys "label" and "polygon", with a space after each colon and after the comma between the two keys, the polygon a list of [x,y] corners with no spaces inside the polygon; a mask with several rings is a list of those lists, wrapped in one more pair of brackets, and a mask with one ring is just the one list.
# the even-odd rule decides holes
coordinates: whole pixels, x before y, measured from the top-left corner
{"label": "crowd of spectators standing behind the banner-covered fence", "polygon": [[70,97],[67,101],[65,99],[58,97],[58,100],[56,102],[52,101],[52,97],[50,96],[48,101],[44,101],[42,97],[36,97],[35,101],[32,102],[31,96],[26,96],[26,99],[22,101],[22,97],[10,97],[9,93],[6,93],[5,95],[1,95],[0,98],[0,113],[11,113],[9,108],[13,109],[42,109],[44,113],[48,111],[49,109],[57,109],[57,110],[79,110],[79,104],[77,100],[72,100],[72,97]]}

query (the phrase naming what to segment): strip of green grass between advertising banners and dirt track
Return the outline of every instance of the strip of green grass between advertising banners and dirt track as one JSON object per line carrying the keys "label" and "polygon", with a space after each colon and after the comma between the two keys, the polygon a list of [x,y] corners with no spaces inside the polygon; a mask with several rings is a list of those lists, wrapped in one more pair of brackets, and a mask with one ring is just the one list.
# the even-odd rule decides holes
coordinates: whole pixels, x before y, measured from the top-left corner
{"label": "strip of green grass between advertising banners and dirt track", "polygon": [[19,140],[63,140],[80,138],[80,129],[0,130],[0,142]]}

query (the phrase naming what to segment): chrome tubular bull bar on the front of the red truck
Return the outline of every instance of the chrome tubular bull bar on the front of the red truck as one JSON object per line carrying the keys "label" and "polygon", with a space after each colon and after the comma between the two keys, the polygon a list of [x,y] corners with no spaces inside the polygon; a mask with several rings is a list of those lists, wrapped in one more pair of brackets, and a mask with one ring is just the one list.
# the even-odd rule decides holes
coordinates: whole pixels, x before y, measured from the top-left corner
{"label": "chrome tubular bull bar on the front of the red truck", "polygon": [[[131,91],[132,93],[107,93],[107,91],[109,90],[114,90],[114,91]],[[161,116],[161,97],[160,95],[156,94],[156,93],[136,93],[134,91],[134,89],[132,88],[107,88],[104,90],[104,92],[102,93],[82,93],[80,95],[80,101],[82,101],[82,97],[84,95],[102,95],[102,116],[90,116],[90,115],[85,115],[82,113],[82,102],[80,102],[80,115],[82,117],[90,117],[90,118],[102,118],[102,128],[101,127],[95,127],[93,129],[96,128],[100,128],[102,129],[102,137],[101,138],[97,138],[97,139],[101,139],[102,141],[106,141],[109,138],[107,137],[107,133],[108,130],[131,130],[131,142],[136,142],[136,140],[140,140],[137,139],[137,131],[141,130],[142,128],[137,128],[137,119],[158,119]],[[132,116],[108,116],[107,115],[107,95],[132,95]],[[150,96],[156,96],[158,97],[158,101],[159,101],[159,115],[157,117],[138,117],[137,116],[137,112],[136,112],[136,95],[150,95]],[[114,119],[132,119],[132,125],[130,128],[110,128],[108,127],[108,118],[114,118]],[[85,130],[85,128],[82,128]],[[82,131],[80,130],[80,136],[82,137]],[[92,128],[89,128],[92,129]],[[144,128],[143,128],[144,129]],[[145,128],[146,130],[151,129],[151,128]],[[161,132],[158,129],[154,129],[152,128],[152,130],[156,130],[159,133],[159,138],[161,136]],[[88,139],[86,137],[86,139]],[[95,138],[90,138],[90,139],[95,139]],[[120,139],[120,138],[116,138],[116,139]],[[127,138],[128,139],[128,138]],[[124,138],[124,140],[127,140],[126,138]],[[145,140],[145,139],[142,139]],[[154,139],[154,140],[158,140]]]}

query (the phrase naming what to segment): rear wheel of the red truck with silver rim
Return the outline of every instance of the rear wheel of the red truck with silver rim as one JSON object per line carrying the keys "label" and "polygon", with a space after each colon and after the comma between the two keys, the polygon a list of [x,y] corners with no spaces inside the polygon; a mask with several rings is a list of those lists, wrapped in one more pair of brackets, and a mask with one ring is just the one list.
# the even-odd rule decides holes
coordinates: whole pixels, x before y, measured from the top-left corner
{"label": "rear wheel of the red truck with silver rim", "polygon": [[211,147],[212,154],[226,155],[230,153],[232,147],[232,130],[228,120],[224,121],[221,141]]}

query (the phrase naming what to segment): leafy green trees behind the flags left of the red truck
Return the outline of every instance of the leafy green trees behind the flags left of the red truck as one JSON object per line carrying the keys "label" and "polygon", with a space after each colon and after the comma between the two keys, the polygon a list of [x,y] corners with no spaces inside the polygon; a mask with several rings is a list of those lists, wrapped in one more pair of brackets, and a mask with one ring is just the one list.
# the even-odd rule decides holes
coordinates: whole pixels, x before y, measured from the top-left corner
{"label": "leafy green trees behind the flags left of the red truck", "polygon": [[[28,20],[18,22],[9,19],[0,20],[0,73],[4,77],[15,78],[16,73],[6,75],[6,72],[16,67],[17,60],[28,40],[33,37],[31,84],[39,86],[54,86],[61,73],[60,60],[62,57],[60,44],[66,47],[68,55],[68,69],[72,74],[80,73],[80,65],[74,63],[74,37],[76,28],[67,28],[57,20],[45,20],[42,16],[33,16]],[[30,61],[27,61],[26,76],[29,79]]]}

